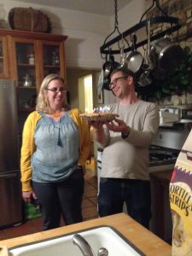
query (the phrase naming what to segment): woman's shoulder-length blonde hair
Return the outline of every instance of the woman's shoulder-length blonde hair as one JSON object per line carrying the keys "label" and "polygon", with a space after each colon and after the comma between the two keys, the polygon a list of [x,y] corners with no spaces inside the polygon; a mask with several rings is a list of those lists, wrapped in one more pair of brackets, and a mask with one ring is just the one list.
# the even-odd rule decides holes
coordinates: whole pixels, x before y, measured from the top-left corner
{"label": "woman's shoulder-length blonde hair", "polygon": [[[37,105],[36,105],[37,111],[40,111],[43,113],[52,113],[51,108],[49,106],[49,101],[48,101],[47,92],[46,92],[46,89],[48,88],[48,85],[52,80],[60,80],[63,85],[65,84],[65,80],[56,73],[50,73],[48,76],[46,76],[41,84],[41,87],[38,93]],[[64,110],[69,109],[67,102],[63,102],[62,108],[64,108]]]}

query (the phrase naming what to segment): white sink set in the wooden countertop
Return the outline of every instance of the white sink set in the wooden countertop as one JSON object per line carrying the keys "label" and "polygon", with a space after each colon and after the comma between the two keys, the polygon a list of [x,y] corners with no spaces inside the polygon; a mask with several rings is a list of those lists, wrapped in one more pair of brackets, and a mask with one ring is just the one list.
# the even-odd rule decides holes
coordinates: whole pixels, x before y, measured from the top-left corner
{"label": "white sink set in the wooden countertop", "polygon": [[108,249],[108,256],[136,256],[145,255],[131,241],[125,239],[117,230],[110,226],[79,230],[64,236],[55,236],[43,241],[27,243],[25,245],[9,248],[11,256],[82,256],[79,247],[73,244],[73,235],[79,234],[89,242],[95,255],[99,248]]}

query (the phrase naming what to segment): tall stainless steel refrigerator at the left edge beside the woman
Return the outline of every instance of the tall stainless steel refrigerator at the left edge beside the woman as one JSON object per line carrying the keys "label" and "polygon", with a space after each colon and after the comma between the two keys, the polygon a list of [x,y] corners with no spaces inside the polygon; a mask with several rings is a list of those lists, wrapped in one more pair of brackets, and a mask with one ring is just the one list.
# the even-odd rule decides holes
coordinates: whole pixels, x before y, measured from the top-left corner
{"label": "tall stainless steel refrigerator at the left edge beside the woman", "polygon": [[0,79],[0,229],[22,221],[15,83]]}

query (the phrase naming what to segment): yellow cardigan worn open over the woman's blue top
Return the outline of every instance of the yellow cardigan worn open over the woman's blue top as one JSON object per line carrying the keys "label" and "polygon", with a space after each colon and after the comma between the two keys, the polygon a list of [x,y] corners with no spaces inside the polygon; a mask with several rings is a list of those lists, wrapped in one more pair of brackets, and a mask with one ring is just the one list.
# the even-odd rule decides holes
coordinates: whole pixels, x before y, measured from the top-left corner
{"label": "yellow cardigan worn open over the woman's blue top", "polygon": [[[79,160],[78,164],[84,166],[87,158],[90,155],[90,131],[87,122],[79,117],[79,109],[75,108],[70,110],[70,117],[72,117],[74,123],[79,127]],[[20,150],[20,173],[22,191],[32,190],[32,166],[31,158],[35,151],[34,143],[34,131],[38,120],[41,119],[41,115],[37,111],[33,111],[26,119],[23,135],[22,135],[22,147]]]}

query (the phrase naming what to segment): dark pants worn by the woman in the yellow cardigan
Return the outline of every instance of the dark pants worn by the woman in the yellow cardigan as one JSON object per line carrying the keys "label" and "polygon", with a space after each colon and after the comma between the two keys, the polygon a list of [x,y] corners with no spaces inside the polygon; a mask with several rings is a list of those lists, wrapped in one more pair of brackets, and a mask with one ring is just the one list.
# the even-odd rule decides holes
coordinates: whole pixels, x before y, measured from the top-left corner
{"label": "dark pants worn by the woman in the yellow cardigan", "polygon": [[65,181],[58,183],[32,182],[44,220],[43,230],[60,226],[61,215],[65,224],[81,222],[84,194],[83,170],[75,170]]}

